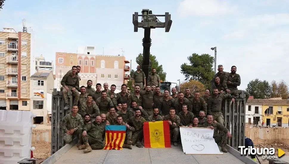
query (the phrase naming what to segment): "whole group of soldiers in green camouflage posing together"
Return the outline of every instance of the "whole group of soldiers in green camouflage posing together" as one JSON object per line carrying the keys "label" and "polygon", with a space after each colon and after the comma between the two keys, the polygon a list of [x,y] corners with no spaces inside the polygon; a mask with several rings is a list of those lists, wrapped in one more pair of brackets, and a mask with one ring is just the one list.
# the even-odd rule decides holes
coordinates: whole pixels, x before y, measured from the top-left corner
{"label": "whole group of soldiers in green camouflage posing together", "polygon": [[[180,141],[180,126],[206,127],[214,129],[215,142],[222,142],[221,150],[227,152],[227,138],[232,135],[224,126],[222,103],[226,98],[234,102],[233,96],[242,92],[237,89],[237,86],[240,86],[240,75],[236,74],[236,66],[232,66],[231,73],[228,73],[219,65],[219,72],[212,79],[212,89],[206,89],[202,97],[198,91],[192,94],[189,88],[185,88],[184,92],[177,92],[176,88],[172,88],[172,95],[169,90],[161,93],[156,69],[152,69],[146,81],[140,66],[133,72],[134,91],[131,93],[128,93],[125,84],[122,84],[119,93],[114,93],[114,84],[108,89],[108,83],[103,84],[104,90],[101,90],[101,84],[97,83],[94,90],[91,80],[87,81],[87,86],[79,88],[80,70],[80,66],[73,66],[61,81],[64,109],[69,109],[69,90],[74,97],[72,112],[61,121],[61,128],[65,132],[63,140],[66,143],[71,143],[73,135],[77,135],[77,147],[79,150],[83,149],[84,153],[103,149],[106,139],[105,126],[123,125],[126,126],[123,148],[132,149],[132,145],[141,148],[144,122],[167,120],[173,146],[178,146]],[[247,98],[248,93],[245,92],[245,95]]]}

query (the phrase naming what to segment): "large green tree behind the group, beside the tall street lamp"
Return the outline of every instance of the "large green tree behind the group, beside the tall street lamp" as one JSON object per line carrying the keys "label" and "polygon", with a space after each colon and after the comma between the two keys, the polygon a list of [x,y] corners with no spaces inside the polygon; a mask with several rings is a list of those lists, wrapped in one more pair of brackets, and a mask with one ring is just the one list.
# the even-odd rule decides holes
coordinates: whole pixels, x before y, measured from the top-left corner
{"label": "large green tree behind the group, beside the tall street lamp", "polygon": [[185,75],[186,80],[197,80],[210,88],[214,77],[214,57],[209,54],[198,55],[193,53],[188,57],[188,60],[189,64],[181,65],[181,73]]}

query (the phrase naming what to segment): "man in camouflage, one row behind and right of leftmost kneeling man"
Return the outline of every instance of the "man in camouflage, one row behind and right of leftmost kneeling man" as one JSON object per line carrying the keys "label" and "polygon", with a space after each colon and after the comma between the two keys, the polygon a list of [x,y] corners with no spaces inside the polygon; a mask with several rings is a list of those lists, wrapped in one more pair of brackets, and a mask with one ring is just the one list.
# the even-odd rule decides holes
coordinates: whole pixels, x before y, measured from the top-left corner
{"label": "man in camouflage, one row behind and right of leftmost kneeling man", "polygon": [[87,95],[86,103],[82,106],[82,116],[84,119],[85,114],[89,114],[91,121],[95,120],[96,116],[100,115],[98,106],[95,103],[92,103],[92,95]]}

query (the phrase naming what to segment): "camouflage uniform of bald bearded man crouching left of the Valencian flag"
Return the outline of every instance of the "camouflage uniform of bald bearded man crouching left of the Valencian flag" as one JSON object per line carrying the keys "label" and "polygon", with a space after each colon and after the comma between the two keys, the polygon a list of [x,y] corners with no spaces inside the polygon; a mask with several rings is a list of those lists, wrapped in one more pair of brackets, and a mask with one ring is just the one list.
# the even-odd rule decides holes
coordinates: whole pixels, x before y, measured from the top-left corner
{"label": "camouflage uniform of bald bearded man crouching left of the Valencian flag", "polygon": [[93,150],[103,149],[105,146],[105,127],[98,125],[95,121],[85,126],[82,131],[87,132],[87,136],[83,137],[84,144],[88,143]]}

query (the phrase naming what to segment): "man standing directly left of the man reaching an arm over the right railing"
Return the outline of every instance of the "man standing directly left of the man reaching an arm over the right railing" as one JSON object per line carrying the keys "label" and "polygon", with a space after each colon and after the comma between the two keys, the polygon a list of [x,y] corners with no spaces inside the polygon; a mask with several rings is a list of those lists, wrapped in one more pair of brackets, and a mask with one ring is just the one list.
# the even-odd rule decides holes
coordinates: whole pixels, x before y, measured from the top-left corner
{"label": "man standing directly left of the man reaching an arm over the right railing", "polygon": [[194,98],[192,98],[190,101],[193,106],[192,112],[195,116],[198,116],[201,110],[205,112],[205,115],[207,114],[207,103],[205,99],[200,98],[200,92],[196,91],[194,93]]}

